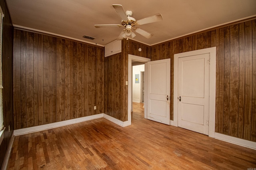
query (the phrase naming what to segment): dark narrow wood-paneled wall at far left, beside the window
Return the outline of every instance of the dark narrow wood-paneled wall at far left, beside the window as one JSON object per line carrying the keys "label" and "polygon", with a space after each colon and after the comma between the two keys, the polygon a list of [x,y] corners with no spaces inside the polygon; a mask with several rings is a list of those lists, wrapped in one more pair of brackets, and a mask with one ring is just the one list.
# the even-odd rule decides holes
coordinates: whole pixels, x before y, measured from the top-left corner
{"label": "dark narrow wood-paneled wall at far left, beside the window", "polygon": [[[12,89],[12,50],[13,26],[5,0],[0,0],[4,12],[2,34],[2,73],[3,73],[3,109],[4,109],[4,139],[0,144],[0,169],[13,133],[13,89]],[[9,131],[10,126],[10,131]]]}

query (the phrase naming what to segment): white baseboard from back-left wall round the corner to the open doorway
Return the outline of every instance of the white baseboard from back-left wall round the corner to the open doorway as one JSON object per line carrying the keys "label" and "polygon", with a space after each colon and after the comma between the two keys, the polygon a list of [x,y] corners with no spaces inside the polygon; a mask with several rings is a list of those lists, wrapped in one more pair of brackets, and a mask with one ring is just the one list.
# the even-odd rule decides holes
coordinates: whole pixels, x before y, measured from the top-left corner
{"label": "white baseboard from back-left wall round the corner to the open doorway", "polygon": [[120,121],[114,117],[111,117],[109,115],[106,115],[105,113],[101,113],[101,114],[97,114],[97,115],[92,115],[92,116],[86,116],[86,117],[80,117],[80,118],[76,118],[76,119],[70,119],[67,121],[61,121],[61,122],[56,122],[56,123],[49,123],[46,125],[39,125],[36,127],[29,127],[29,128],[22,128],[22,129],[18,129],[18,130],[14,130],[14,136],[19,136],[22,134],[28,134],[28,133],[33,133],[33,132],[39,132],[42,130],[48,130],[51,128],[57,128],[57,127],[63,127],[66,125],[72,125],[75,123],[80,123],[80,122],[85,122],[85,121],[90,121],[93,119],[99,119],[99,118],[105,118],[113,123],[116,123],[117,125],[121,126],[121,127],[126,127],[131,125],[131,123],[129,123],[129,121]]}

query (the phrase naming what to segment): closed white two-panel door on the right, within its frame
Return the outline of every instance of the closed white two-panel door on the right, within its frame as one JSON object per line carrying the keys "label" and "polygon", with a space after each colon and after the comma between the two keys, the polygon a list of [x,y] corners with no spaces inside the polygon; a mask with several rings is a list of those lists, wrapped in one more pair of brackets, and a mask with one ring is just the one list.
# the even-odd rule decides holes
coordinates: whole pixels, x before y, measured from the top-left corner
{"label": "closed white two-panel door on the right, within its frame", "polygon": [[178,59],[178,127],[208,135],[210,54]]}

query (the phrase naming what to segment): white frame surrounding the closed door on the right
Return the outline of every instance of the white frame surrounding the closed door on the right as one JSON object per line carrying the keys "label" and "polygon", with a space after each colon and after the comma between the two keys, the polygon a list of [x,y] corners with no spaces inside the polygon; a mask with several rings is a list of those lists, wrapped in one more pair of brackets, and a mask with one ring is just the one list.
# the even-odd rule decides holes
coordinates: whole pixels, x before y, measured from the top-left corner
{"label": "white frame surrounding the closed door on the right", "polygon": [[209,98],[209,135],[215,134],[215,96],[216,96],[216,47],[174,54],[174,96],[173,121],[171,125],[178,127],[178,58],[210,53],[210,98]]}

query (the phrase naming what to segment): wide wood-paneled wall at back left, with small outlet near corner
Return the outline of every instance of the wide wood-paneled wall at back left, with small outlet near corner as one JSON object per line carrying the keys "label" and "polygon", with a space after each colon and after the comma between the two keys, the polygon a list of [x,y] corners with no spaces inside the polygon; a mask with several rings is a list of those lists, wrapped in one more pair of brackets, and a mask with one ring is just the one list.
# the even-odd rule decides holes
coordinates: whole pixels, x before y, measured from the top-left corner
{"label": "wide wood-paneled wall at back left, with small outlet near corner", "polygon": [[13,58],[15,129],[104,113],[104,47],[15,29]]}

